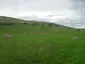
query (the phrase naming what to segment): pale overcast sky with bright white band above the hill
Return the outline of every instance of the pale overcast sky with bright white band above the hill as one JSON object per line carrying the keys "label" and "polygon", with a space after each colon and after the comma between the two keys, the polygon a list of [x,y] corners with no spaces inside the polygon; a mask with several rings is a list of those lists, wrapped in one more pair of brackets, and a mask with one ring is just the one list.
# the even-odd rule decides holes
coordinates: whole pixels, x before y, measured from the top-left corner
{"label": "pale overcast sky with bright white band above the hill", "polygon": [[[0,0],[0,16],[24,19],[31,16],[65,25],[84,24],[83,20],[80,22],[80,13],[74,10],[80,11],[81,3],[78,0]],[[66,21],[67,18],[72,21]]]}

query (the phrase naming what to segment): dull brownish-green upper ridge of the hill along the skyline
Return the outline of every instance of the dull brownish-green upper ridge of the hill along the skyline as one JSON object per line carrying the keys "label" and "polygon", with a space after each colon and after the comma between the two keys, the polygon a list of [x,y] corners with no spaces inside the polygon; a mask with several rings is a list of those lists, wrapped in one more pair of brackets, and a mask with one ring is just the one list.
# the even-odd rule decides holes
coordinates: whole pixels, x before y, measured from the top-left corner
{"label": "dull brownish-green upper ridge of the hill along the skyline", "polygon": [[[65,28],[67,27],[67,26],[55,24],[52,22],[44,22],[44,21],[36,21],[36,20],[21,20],[18,18],[0,16],[0,24],[6,24],[6,23],[8,23],[8,24],[9,23],[43,24],[43,25],[51,25],[51,26],[56,26],[56,27],[65,27]],[[69,28],[71,28],[71,27],[69,27]]]}

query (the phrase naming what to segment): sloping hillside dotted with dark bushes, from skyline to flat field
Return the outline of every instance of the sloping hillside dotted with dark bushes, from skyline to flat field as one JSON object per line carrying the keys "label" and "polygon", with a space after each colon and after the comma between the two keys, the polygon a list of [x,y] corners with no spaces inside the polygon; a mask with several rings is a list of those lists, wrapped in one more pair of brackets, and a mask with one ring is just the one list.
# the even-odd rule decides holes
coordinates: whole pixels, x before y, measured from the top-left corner
{"label": "sloping hillside dotted with dark bushes, from skyline to flat field", "polygon": [[63,31],[63,30],[65,31],[67,29],[69,31],[74,30],[74,28],[51,23],[51,22],[42,22],[42,21],[35,21],[35,20],[26,21],[26,20],[20,20],[16,18],[3,17],[3,16],[1,16],[0,18],[1,18],[0,19],[0,30],[2,33],[10,32],[10,31],[12,31],[13,33],[25,33],[26,31],[29,31],[29,32],[33,31],[34,33],[38,33],[38,32],[41,33],[43,31],[45,32],[52,31],[56,33],[57,31],[58,33],[60,31]]}

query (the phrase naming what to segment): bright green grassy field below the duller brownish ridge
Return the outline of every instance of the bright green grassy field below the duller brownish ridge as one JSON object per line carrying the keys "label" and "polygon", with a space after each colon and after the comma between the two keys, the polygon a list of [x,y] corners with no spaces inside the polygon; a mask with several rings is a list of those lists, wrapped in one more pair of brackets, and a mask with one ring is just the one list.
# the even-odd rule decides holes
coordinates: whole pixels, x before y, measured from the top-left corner
{"label": "bright green grassy field below the duller brownish ridge", "polygon": [[[12,38],[5,39],[4,34]],[[85,31],[0,25],[0,64],[85,64]]]}

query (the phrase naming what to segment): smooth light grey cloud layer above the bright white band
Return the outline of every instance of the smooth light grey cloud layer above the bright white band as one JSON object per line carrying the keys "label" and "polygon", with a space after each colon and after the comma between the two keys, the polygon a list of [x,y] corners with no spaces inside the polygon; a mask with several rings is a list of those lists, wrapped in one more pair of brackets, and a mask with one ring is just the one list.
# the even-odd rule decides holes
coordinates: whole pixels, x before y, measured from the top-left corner
{"label": "smooth light grey cloud layer above the bright white band", "polygon": [[70,6],[69,0],[0,0],[0,8],[19,11],[66,10]]}

